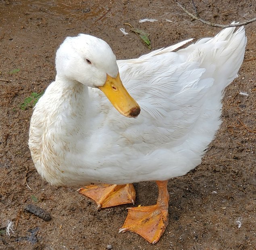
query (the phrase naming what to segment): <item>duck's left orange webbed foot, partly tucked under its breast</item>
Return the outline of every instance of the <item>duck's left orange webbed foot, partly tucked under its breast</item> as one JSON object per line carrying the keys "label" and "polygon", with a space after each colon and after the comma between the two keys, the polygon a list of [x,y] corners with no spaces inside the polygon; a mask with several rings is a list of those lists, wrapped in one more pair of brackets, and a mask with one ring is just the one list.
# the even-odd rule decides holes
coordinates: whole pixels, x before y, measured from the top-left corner
{"label": "duck's left orange webbed foot, partly tucked under its breast", "polygon": [[93,199],[97,203],[97,210],[104,207],[113,207],[117,205],[135,202],[135,189],[133,184],[110,185],[99,184],[89,185],[85,188],[80,188],[80,194],[84,194]]}

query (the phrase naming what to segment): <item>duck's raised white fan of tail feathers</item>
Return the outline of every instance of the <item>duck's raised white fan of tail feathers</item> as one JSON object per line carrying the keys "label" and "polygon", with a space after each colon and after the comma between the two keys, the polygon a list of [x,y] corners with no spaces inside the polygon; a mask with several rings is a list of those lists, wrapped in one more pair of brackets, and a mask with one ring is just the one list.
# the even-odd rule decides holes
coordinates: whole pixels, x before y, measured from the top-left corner
{"label": "duck's raised white fan of tail feathers", "polygon": [[200,63],[206,71],[204,78],[214,78],[212,88],[227,87],[235,76],[244,60],[247,38],[244,27],[235,31],[235,27],[223,29],[215,37],[200,39],[189,47],[179,50],[179,54],[187,55],[187,61]]}

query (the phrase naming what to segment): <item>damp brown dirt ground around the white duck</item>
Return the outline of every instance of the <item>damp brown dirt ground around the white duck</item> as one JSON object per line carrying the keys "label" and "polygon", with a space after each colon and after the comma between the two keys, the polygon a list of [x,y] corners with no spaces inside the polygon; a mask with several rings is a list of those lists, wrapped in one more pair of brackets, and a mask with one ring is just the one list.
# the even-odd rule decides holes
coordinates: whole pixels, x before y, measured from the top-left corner
{"label": "damp brown dirt ground around the white duck", "polygon": [[[194,11],[190,0],[181,2]],[[254,0],[194,2],[198,13],[215,23],[244,22],[256,13]],[[139,23],[144,18],[158,21]],[[54,80],[55,52],[66,36],[98,36],[124,59],[148,49],[129,27],[129,35],[121,33],[123,23],[146,30],[152,50],[213,36],[220,28],[192,21],[170,0],[0,0],[0,21],[1,250],[100,250],[108,244],[113,250],[256,249],[256,23],[246,26],[245,60],[223,99],[223,124],[202,164],[169,181],[169,225],[151,245],[135,233],[118,233],[129,205],[97,212],[94,202],[76,192],[78,187],[42,180],[27,146],[32,107],[22,110],[20,105]],[[137,183],[135,189],[135,205],[155,203],[154,182]],[[52,220],[24,211],[27,204],[42,207]],[[8,220],[14,223],[10,236]]]}

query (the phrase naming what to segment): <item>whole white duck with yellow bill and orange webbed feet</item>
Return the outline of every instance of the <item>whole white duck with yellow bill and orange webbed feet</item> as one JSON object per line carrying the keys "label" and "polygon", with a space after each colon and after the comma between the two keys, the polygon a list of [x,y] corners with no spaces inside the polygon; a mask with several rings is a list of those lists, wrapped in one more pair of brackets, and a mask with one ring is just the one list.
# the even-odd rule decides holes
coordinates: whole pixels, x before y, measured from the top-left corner
{"label": "whole white duck with yellow bill and orange webbed feet", "polygon": [[[81,192],[98,209],[134,203],[131,183],[157,180],[156,205],[130,208],[119,231],[156,243],[168,224],[167,180],[201,163],[221,124],[223,91],[246,46],[244,27],[234,30],[178,52],[192,39],[119,61],[101,39],[67,37],[56,53],[56,79],[31,118],[37,171],[54,185],[94,184]],[[121,114],[137,119],[118,114],[99,89]]]}

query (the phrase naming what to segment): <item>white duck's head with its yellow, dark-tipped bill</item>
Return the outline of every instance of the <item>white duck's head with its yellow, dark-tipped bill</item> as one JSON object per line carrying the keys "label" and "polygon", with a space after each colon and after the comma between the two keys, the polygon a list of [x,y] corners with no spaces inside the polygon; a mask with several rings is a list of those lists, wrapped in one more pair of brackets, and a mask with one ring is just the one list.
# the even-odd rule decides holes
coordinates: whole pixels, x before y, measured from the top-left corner
{"label": "white duck's head with its yellow, dark-tipped bill", "polygon": [[102,39],[85,34],[67,37],[56,52],[56,71],[67,81],[100,89],[123,116],[139,115],[139,105],[120,79],[117,59]]}

